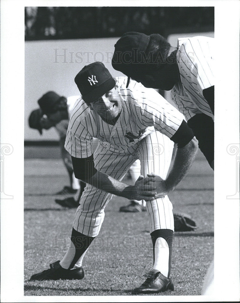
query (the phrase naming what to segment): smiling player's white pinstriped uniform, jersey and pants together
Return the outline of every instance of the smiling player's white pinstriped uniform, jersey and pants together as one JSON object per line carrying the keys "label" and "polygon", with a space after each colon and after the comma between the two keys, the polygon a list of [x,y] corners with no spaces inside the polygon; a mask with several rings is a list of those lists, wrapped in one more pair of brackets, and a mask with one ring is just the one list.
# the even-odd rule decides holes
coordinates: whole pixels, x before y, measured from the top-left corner
{"label": "smiling player's white pinstriped uniform, jersey and pants together", "polygon": [[[116,124],[109,125],[89,109],[82,99],[75,103],[70,118],[65,148],[76,158],[92,154],[92,138],[98,138],[94,152],[97,170],[122,180],[136,159],[141,162],[141,174],[156,173],[166,178],[171,162],[173,142],[169,139],[184,119],[154,89],[127,77],[116,79],[122,112]],[[87,184],[76,211],[74,229],[84,235],[98,235],[104,220],[104,209],[112,195]],[[156,229],[174,230],[172,203],[168,196],[147,202],[150,232]]]}

